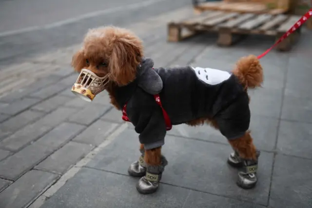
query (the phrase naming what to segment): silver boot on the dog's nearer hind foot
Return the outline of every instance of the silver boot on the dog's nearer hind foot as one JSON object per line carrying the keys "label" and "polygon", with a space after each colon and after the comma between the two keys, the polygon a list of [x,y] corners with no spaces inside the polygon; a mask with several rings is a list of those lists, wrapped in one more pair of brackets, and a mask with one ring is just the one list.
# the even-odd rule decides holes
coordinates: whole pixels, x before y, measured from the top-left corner
{"label": "silver boot on the dog's nearer hind foot", "polygon": [[[257,151],[257,157],[259,157],[260,152]],[[258,179],[257,179],[257,169],[258,169],[258,161],[252,160],[243,160],[243,171],[238,172],[238,180],[237,185],[244,189],[255,187]]]}

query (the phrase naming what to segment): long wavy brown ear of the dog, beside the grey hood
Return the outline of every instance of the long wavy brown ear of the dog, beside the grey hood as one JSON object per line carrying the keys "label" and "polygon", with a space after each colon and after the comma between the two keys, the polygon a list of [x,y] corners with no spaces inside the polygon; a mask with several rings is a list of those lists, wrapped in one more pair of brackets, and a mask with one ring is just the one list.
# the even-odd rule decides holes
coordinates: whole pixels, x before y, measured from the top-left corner
{"label": "long wavy brown ear of the dog, beside the grey hood", "polygon": [[119,86],[132,82],[141,61],[142,46],[138,40],[118,39],[109,62],[111,79]]}

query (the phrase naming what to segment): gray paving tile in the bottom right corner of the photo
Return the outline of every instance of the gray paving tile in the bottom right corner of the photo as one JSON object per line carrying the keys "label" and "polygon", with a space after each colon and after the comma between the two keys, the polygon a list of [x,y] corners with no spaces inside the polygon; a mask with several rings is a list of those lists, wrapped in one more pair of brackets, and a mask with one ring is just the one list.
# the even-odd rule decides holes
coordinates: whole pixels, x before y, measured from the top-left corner
{"label": "gray paving tile in the bottom right corner of the photo", "polygon": [[311,174],[312,160],[276,155],[270,207],[311,208]]}

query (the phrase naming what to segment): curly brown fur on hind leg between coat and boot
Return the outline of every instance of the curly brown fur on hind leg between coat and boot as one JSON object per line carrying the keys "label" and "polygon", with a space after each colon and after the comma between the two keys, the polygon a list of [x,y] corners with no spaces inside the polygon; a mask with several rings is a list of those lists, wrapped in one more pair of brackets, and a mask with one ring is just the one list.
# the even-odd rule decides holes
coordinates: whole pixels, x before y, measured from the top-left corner
{"label": "curly brown fur on hind leg between coat and boot", "polygon": [[253,143],[253,138],[250,135],[250,131],[247,131],[244,136],[238,139],[229,140],[229,143],[242,158],[255,161],[257,160],[256,148]]}

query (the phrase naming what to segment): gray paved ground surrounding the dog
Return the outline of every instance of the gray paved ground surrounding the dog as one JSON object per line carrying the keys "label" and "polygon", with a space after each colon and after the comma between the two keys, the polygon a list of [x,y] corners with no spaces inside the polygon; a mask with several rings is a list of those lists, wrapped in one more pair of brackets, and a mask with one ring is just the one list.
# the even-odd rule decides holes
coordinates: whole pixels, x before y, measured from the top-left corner
{"label": "gray paved ground surrounding the dog", "polygon": [[[106,9],[101,2],[94,1],[98,11]],[[69,63],[86,30],[102,24],[132,29],[155,67],[229,71],[241,56],[259,55],[274,42],[251,36],[221,48],[215,35],[201,35],[168,43],[167,21],[192,15],[190,2],[141,2],[146,5],[127,11],[116,0],[107,4],[119,6],[116,11],[80,20],[79,12],[97,6],[84,9],[88,4],[79,1],[77,11],[67,13],[73,3],[66,1],[59,17],[50,11],[38,20],[36,10],[38,18],[24,20],[24,27],[2,21],[13,15],[0,9],[0,208],[312,208],[312,31],[305,29],[291,52],[273,50],[261,59],[264,85],[250,92],[251,130],[261,150],[257,187],[235,185],[237,170],[226,163],[231,147],[219,132],[179,125],[167,133],[163,153],[169,165],[159,190],[137,193],[138,179],[127,174],[139,156],[132,125],[121,120],[106,92],[92,103],[70,92],[77,74]],[[58,8],[58,1],[50,3],[51,10]],[[71,20],[51,26],[65,19]]]}

